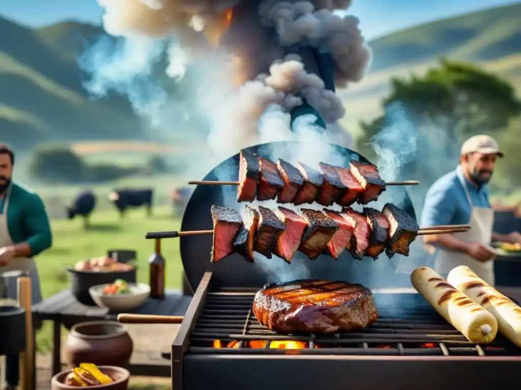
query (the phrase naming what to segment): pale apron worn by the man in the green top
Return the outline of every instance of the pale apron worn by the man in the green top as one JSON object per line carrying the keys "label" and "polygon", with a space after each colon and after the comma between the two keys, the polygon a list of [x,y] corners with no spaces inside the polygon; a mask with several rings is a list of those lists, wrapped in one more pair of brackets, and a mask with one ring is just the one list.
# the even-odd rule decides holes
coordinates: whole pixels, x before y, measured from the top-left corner
{"label": "pale apron worn by the man in the green top", "polygon": [[[5,202],[3,213],[0,214],[0,248],[4,246],[13,245],[14,242],[11,240],[9,235],[9,229],[7,228],[7,209],[9,207],[9,198],[11,194],[11,187],[9,187],[5,193]],[[36,264],[30,257],[16,257],[7,266],[0,267],[0,296],[5,292],[5,284],[7,284],[7,298],[16,300],[17,299],[17,278],[16,277],[2,277],[4,272],[8,271],[26,271],[31,278],[31,299],[32,304],[36,304],[42,301],[42,295],[40,292],[40,280],[38,277],[38,270],[36,270]]]}

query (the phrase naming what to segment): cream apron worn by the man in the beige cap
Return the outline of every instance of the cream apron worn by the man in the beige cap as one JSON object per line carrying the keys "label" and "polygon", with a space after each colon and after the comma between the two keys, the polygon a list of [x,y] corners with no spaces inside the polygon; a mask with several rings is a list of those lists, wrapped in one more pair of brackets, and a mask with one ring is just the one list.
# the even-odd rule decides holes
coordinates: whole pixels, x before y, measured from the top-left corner
{"label": "cream apron worn by the man in the beige cap", "polygon": [[[454,233],[454,236],[466,242],[479,242],[490,245],[492,241],[492,228],[494,225],[494,211],[486,207],[473,206],[470,194],[465,183],[463,172],[458,169],[457,177],[465,190],[465,196],[470,204],[470,229],[462,233]],[[477,276],[494,286],[494,260],[482,263],[466,253],[437,249],[434,261],[435,270],[439,274],[448,274],[454,267],[466,265],[472,269]]]}

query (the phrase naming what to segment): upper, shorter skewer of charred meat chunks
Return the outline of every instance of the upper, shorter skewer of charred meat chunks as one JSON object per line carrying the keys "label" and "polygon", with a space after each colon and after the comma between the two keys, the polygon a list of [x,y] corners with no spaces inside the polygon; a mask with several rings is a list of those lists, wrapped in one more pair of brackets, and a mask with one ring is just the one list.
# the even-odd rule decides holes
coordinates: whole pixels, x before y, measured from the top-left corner
{"label": "upper, shorter skewer of charred meat chunks", "polygon": [[367,204],[377,200],[387,186],[417,185],[406,180],[386,183],[378,168],[369,163],[351,161],[348,168],[326,163],[318,164],[318,171],[302,163],[296,167],[278,159],[277,164],[256,154],[241,150],[239,181],[189,181],[195,185],[235,185],[238,202],[252,202],[277,197],[279,203],[317,203],[331,206],[338,203],[350,206],[355,201]]}

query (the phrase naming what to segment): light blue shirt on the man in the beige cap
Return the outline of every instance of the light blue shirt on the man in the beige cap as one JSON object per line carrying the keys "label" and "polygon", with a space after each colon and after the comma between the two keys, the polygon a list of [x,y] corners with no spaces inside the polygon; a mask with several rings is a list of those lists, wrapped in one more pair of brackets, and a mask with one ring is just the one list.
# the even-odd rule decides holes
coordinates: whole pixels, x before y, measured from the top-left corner
{"label": "light blue shirt on the man in the beige cap", "polygon": [[[454,171],[436,180],[429,188],[421,213],[420,227],[466,225],[470,222],[470,204],[458,178],[458,171],[463,174],[459,165]],[[465,177],[464,181],[473,206],[490,209],[487,186],[477,188]]]}

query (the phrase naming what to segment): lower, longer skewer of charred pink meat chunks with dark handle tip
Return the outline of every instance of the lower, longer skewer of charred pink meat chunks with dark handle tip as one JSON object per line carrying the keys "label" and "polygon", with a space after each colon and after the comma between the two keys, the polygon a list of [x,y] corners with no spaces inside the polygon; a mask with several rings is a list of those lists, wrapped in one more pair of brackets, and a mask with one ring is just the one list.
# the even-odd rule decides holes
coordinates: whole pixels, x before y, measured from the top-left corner
{"label": "lower, longer skewer of charred pink meat chunks with dark handle tip", "polygon": [[388,257],[395,253],[408,256],[409,246],[418,235],[434,235],[466,231],[469,225],[437,226],[419,229],[414,218],[392,203],[383,211],[366,207],[358,213],[344,207],[341,213],[301,209],[302,216],[285,207],[275,211],[246,207],[244,221],[239,213],[226,207],[212,206],[213,230],[147,233],[148,239],[172,238],[203,234],[214,235],[212,262],[238,252],[253,262],[253,252],[271,258],[275,253],[290,263],[297,251],[315,259],[323,252],[338,259],[344,249],[354,258],[376,259],[384,250]]}

